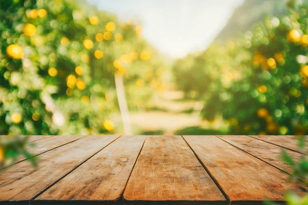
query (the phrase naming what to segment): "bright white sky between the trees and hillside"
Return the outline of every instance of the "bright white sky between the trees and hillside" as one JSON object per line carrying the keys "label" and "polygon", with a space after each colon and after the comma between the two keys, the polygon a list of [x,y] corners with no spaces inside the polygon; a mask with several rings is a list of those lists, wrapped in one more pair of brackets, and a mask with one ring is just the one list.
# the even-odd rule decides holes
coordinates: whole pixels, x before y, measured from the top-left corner
{"label": "bright white sky between the trees and hillside", "polygon": [[243,0],[87,0],[122,21],[135,20],[142,35],[172,58],[205,50]]}

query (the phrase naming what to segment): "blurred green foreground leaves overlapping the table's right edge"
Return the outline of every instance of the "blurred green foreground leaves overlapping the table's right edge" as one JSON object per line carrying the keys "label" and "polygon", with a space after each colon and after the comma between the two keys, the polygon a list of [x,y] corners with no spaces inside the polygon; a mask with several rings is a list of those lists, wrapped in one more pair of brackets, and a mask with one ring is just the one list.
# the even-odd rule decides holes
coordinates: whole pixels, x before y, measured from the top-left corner
{"label": "blurred green foreground leaves overlapping the table's right edge", "polygon": [[[305,185],[308,185],[308,159],[307,154],[305,152],[305,141],[306,136],[298,136],[298,147],[301,152],[304,153],[301,155],[300,160],[297,162],[295,159],[288,154],[285,150],[282,150],[282,161],[286,164],[290,165],[292,168],[291,179],[292,180],[301,180]],[[306,205],[308,204],[308,194],[305,196],[298,196],[294,192],[288,192],[285,195],[285,200],[288,205]],[[273,205],[273,202],[266,201],[266,205]]]}

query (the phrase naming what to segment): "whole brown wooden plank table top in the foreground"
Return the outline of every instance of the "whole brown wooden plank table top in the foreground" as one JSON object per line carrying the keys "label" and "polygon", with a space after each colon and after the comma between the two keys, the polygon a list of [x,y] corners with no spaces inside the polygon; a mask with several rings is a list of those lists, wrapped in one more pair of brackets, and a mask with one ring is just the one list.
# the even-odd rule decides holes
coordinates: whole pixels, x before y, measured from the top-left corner
{"label": "whole brown wooden plank table top in the foreground", "polygon": [[[295,136],[30,136],[39,158],[0,171],[0,204],[262,204],[283,201]],[[306,147],[308,149],[308,147]]]}

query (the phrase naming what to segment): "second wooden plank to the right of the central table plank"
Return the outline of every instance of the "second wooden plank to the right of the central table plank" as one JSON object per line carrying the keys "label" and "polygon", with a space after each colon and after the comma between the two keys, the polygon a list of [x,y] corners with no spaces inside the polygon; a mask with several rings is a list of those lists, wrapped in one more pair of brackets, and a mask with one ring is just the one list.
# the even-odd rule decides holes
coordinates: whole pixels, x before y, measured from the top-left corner
{"label": "second wooden plank to the right of the central table plank", "polygon": [[237,148],[252,154],[256,157],[258,157],[260,160],[263,160],[264,162],[273,165],[274,167],[283,170],[289,174],[291,174],[291,166],[285,164],[281,160],[281,150],[285,150],[288,154],[293,156],[295,161],[299,161],[302,154],[291,151],[288,149],[281,148],[277,145],[269,144],[254,138],[251,138],[246,135],[224,135],[224,136],[218,136],[218,138],[236,146]]}

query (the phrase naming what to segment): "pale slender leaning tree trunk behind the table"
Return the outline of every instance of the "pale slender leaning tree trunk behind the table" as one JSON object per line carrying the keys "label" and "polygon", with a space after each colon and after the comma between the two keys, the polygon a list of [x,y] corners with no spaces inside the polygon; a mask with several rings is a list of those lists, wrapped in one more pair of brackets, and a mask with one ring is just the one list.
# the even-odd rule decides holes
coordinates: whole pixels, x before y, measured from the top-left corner
{"label": "pale slender leaning tree trunk behind the table", "polygon": [[115,74],[114,80],[115,80],[115,89],[117,90],[117,97],[123,122],[124,134],[131,135],[132,130],[131,130],[129,111],[125,97],[123,75]]}

